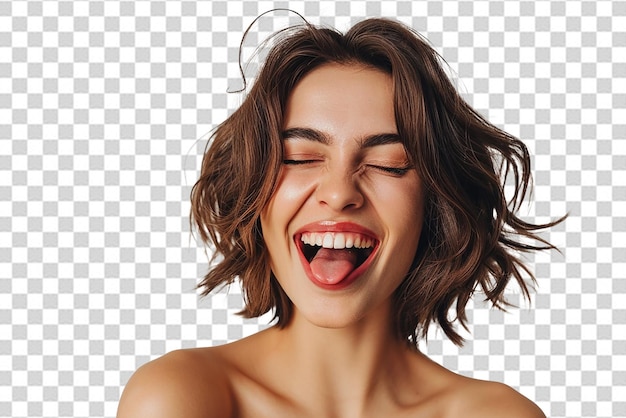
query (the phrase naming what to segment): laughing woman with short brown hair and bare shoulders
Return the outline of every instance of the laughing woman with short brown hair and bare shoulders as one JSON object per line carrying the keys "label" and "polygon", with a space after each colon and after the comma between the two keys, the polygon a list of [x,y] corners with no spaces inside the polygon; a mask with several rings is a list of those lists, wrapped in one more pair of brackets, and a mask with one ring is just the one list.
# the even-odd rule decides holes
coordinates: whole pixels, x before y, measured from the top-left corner
{"label": "laughing woman with short brown hair and bare shoulders", "polygon": [[465,103],[400,23],[278,36],[192,193],[221,257],[205,294],[239,278],[243,314],[273,309],[277,323],[141,367],[118,417],[544,417],[417,348],[432,322],[460,345],[454,323],[476,289],[502,307],[512,278],[528,296],[515,252],[553,248],[534,231],[554,223],[515,215],[526,147]]}

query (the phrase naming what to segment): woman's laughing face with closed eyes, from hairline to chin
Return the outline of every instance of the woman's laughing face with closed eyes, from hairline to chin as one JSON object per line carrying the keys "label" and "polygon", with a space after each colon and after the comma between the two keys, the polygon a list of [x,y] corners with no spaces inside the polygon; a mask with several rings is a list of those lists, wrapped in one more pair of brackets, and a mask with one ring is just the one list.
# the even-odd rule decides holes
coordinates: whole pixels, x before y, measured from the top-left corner
{"label": "woman's laughing face with closed eyes, from hairline to chin", "polygon": [[421,182],[398,137],[391,77],[313,70],[287,102],[284,162],[261,215],[272,271],[296,314],[347,326],[384,308],[415,256]]}

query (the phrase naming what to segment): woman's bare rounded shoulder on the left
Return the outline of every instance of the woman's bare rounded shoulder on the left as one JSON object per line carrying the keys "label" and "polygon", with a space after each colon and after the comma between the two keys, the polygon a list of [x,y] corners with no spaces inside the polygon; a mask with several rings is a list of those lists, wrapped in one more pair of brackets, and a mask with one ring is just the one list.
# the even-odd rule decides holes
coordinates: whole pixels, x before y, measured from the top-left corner
{"label": "woman's bare rounded shoulder on the left", "polygon": [[140,367],[120,399],[117,418],[233,416],[227,373],[211,349],[178,350]]}

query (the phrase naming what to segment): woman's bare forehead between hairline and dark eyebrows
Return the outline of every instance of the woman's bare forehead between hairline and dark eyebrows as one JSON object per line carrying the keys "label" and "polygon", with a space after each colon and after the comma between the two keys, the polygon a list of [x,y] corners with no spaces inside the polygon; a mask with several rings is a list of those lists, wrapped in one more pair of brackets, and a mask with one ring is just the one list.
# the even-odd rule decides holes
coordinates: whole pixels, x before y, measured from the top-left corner
{"label": "woman's bare forehead between hairline and dark eyebrows", "polygon": [[312,70],[288,98],[284,129],[293,127],[337,134],[396,132],[391,76],[358,64]]}

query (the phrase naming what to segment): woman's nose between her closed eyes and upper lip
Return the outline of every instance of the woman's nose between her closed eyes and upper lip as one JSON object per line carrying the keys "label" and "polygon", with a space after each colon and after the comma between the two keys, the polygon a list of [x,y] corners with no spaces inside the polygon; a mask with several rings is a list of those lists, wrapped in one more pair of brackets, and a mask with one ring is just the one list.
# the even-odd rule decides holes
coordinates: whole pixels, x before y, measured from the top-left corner
{"label": "woman's nose between her closed eyes and upper lip", "polygon": [[341,212],[363,206],[365,198],[353,173],[328,170],[319,180],[315,191],[317,201]]}

